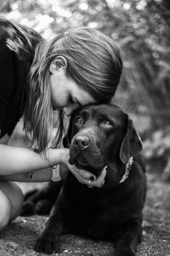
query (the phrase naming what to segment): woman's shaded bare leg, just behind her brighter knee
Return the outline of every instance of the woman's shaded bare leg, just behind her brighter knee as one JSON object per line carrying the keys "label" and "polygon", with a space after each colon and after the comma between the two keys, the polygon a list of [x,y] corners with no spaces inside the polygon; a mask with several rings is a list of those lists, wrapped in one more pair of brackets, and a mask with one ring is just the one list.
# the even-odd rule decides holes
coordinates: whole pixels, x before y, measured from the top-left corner
{"label": "woman's shaded bare leg, just behind her brighter knee", "polygon": [[[0,189],[7,196],[11,203],[11,215],[9,220],[13,220],[19,215],[22,209],[22,203],[24,199],[22,190],[15,182],[2,180],[0,181]],[[2,203],[3,202],[1,202],[0,198],[1,207],[3,207]]]}

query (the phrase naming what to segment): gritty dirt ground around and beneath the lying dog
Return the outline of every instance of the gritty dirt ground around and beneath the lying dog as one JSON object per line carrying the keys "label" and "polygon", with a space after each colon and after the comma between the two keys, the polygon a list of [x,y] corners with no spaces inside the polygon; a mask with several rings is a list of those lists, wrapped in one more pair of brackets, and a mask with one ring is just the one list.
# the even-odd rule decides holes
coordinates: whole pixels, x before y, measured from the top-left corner
{"label": "gritty dirt ground around and beneath the lying dog", "polygon": [[[170,184],[160,177],[148,174],[148,192],[144,208],[143,239],[137,247],[137,256],[170,256]],[[18,183],[25,193],[40,183]],[[43,256],[34,251],[34,244],[45,227],[48,216],[32,215],[12,221],[0,233],[0,256]],[[109,256],[114,244],[110,241],[92,241],[72,234],[61,236],[58,256]]]}

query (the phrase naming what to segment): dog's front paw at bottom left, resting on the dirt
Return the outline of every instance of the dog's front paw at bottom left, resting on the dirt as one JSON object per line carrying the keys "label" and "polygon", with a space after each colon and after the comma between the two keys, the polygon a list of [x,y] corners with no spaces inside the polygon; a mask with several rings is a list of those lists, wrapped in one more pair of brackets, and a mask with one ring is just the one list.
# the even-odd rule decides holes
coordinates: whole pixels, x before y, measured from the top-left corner
{"label": "dog's front paw at bottom left, resting on the dirt", "polygon": [[40,236],[34,246],[36,252],[52,254],[60,250],[60,241],[49,236]]}

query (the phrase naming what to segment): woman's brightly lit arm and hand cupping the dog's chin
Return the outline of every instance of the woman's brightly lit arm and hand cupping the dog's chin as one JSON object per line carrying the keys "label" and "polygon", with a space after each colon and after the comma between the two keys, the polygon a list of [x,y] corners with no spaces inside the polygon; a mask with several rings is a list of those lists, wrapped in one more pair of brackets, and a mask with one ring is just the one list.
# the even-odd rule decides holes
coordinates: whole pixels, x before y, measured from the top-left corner
{"label": "woman's brightly lit arm and hand cupping the dog's chin", "polygon": [[[106,168],[103,168],[101,174],[96,178],[91,172],[85,170],[79,170],[76,172],[75,165],[70,165],[68,163],[69,159],[69,149],[60,148],[48,150],[48,160],[51,166],[56,164],[64,164],[68,169],[74,174],[74,176],[83,184],[87,184],[91,175],[94,176],[94,181],[91,181],[91,185],[95,187],[101,187],[104,184],[104,178],[106,175]],[[38,171],[41,169],[48,168],[48,164],[43,153],[38,154],[28,148],[18,148],[7,145],[0,144],[0,175],[13,175],[21,174],[31,171]],[[40,171],[42,172],[42,171]],[[40,172],[37,172],[37,181],[42,181],[38,179]],[[46,172],[44,170],[44,172]],[[62,171],[60,171],[62,176]],[[50,175],[49,175],[50,176]],[[7,178],[7,177],[5,177]],[[26,178],[28,180],[28,178]],[[35,178],[34,178],[35,179]],[[48,178],[49,179],[49,178]],[[46,181],[48,181],[48,179]],[[9,179],[8,179],[9,180]],[[49,179],[50,180],[50,179]],[[20,179],[20,181],[24,181]],[[45,180],[43,180],[45,181]]]}

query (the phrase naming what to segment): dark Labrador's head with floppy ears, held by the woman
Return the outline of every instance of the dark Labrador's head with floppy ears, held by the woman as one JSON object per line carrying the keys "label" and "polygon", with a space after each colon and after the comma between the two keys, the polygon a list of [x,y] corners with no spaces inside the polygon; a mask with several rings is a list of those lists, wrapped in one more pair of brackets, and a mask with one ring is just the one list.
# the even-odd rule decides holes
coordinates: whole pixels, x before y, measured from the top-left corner
{"label": "dark Labrador's head with floppy ears, held by the woman", "polygon": [[124,111],[113,104],[88,105],[73,112],[63,139],[70,148],[69,163],[98,175],[108,166],[106,187],[115,187],[131,156],[142,150],[142,142]]}

